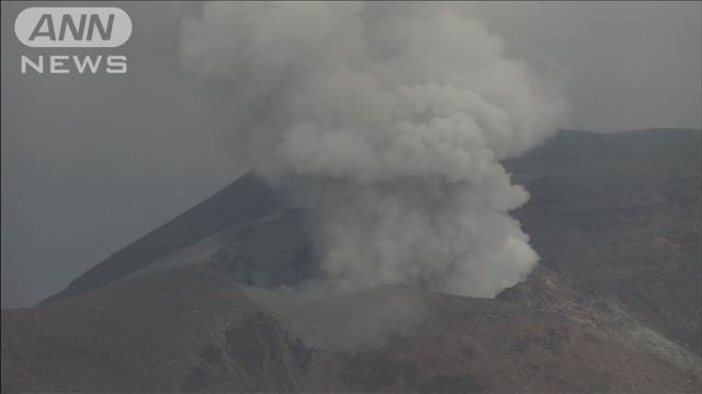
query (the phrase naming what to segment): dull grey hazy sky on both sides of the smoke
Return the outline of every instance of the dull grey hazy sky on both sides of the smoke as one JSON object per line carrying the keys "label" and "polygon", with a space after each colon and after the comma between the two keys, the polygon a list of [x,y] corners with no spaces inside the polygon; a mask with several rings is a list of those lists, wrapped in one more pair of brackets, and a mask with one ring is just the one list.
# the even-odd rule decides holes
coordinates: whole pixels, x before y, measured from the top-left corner
{"label": "dull grey hazy sky on both sides of the smoke", "polygon": [[[208,92],[181,71],[180,21],[199,4],[121,4],[127,44],[53,51],[126,55],[126,76],[21,74],[21,55],[49,53],[14,37],[26,7],[2,2],[3,308],[60,290],[247,169]],[[444,7],[561,84],[570,128],[702,126],[700,2]]]}

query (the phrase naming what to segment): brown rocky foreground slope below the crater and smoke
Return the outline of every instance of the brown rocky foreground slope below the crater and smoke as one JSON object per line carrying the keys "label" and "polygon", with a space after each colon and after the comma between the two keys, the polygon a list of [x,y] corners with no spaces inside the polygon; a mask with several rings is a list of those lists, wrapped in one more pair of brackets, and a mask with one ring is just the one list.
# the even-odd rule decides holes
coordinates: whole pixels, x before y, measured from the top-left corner
{"label": "brown rocky foreground slope below the crater and smoke", "polygon": [[[3,311],[2,391],[660,393],[702,384],[697,356],[621,312],[579,305],[555,274],[499,300],[394,286],[298,299],[218,278],[196,264]],[[534,292],[556,301],[532,303]]]}

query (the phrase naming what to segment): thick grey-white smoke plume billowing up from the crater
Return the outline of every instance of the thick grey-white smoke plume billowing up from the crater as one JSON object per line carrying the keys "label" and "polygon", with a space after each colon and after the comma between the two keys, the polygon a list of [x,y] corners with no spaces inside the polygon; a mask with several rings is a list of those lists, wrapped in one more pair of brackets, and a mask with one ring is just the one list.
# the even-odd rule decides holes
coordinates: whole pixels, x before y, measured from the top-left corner
{"label": "thick grey-white smoke plume billowing up from the crater", "polygon": [[552,135],[563,100],[479,21],[363,3],[204,7],[185,67],[273,186],[314,208],[322,281],[492,297],[537,256],[499,160]]}

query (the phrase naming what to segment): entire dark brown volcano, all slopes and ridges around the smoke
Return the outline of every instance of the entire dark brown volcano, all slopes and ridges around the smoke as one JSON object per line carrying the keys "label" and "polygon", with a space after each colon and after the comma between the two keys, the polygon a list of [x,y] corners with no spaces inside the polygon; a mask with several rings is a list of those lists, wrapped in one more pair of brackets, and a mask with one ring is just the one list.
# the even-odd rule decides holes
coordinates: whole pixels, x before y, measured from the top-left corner
{"label": "entire dark brown volcano, all slopes and ridges around the smoke", "polygon": [[495,299],[317,273],[256,173],[2,311],[2,392],[699,392],[700,130],[564,130],[503,162],[541,256]]}

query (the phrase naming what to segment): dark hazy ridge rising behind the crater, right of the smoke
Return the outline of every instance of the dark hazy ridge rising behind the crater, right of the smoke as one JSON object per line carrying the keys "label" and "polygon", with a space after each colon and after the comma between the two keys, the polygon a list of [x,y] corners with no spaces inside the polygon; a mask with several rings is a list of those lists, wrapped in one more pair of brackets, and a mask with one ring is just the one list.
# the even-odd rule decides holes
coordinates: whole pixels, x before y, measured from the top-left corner
{"label": "dark hazy ridge rising behind the crater, right of the smoke", "polygon": [[700,354],[702,132],[564,131],[507,167],[543,265]]}

